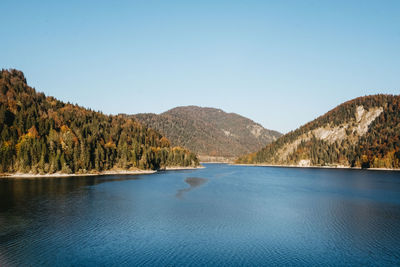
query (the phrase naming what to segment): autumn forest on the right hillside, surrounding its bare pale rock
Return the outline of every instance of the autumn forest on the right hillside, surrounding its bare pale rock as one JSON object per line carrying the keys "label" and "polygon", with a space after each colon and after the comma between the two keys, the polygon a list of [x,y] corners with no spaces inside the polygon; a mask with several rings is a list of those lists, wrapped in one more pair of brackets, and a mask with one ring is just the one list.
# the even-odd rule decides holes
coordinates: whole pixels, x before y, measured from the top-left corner
{"label": "autumn forest on the right hillside, surrounding its bare pale rock", "polygon": [[[340,126],[355,123],[358,106],[368,111],[382,107],[383,112],[369,125],[368,132],[359,138],[327,142],[315,137],[302,141],[295,151],[282,160],[278,151],[303,134],[325,125]],[[313,166],[343,165],[363,168],[400,168],[400,96],[371,95],[345,102],[325,115],[292,131],[262,150],[240,157],[238,163],[298,164],[310,160]]]}

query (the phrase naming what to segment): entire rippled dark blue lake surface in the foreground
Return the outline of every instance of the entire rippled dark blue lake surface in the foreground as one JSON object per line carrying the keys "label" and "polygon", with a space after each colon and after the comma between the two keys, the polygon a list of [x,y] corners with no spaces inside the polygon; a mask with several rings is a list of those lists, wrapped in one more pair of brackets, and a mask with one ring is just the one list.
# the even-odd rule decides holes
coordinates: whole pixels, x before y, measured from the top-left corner
{"label": "entire rippled dark blue lake surface in the foreground", "polygon": [[0,266],[400,265],[400,173],[0,179]]}

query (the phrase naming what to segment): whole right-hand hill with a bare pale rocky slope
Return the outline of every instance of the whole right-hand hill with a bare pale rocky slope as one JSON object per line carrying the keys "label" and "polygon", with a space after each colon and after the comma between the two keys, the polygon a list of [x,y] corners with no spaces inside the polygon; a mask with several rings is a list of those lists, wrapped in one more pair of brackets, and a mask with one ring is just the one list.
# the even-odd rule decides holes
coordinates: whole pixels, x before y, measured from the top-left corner
{"label": "whole right-hand hill with a bare pale rocky slope", "polygon": [[400,167],[400,96],[345,102],[237,163]]}

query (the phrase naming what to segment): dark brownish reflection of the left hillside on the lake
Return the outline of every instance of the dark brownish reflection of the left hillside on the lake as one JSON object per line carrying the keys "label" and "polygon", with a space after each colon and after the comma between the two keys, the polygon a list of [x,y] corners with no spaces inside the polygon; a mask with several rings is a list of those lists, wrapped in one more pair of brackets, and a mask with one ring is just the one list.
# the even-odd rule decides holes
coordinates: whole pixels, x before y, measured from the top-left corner
{"label": "dark brownish reflection of the left hillside on the lake", "polygon": [[[34,219],[35,212],[46,205],[55,204],[54,208],[64,205],[72,194],[84,196],[90,186],[100,185],[106,182],[138,180],[142,176],[82,176],[82,177],[56,177],[56,178],[2,178],[0,180],[0,244],[13,240],[28,229]],[[42,203],[42,206],[38,206]],[[55,211],[60,212],[60,211]],[[0,247],[1,249],[1,247]],[[1,252],[1,250],[0,250]],[[1,256],[1,253],[0,253]],[[0,257],[1,263],[1,257]],[[1,264],[0,264],[1,266]]]}

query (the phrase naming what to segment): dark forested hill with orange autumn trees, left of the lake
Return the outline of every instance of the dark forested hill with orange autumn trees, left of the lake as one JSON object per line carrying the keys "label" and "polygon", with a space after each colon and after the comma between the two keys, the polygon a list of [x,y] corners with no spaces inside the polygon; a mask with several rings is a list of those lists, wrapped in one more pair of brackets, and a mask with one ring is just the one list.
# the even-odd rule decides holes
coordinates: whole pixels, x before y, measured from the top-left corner
{"label": "dark forested hill with orange autumn trees, left of the lake", "polygon": [[17,70],[0,72],[0,134],[0,173],[198,165],[195,154],[141,123],[45,96]]}

